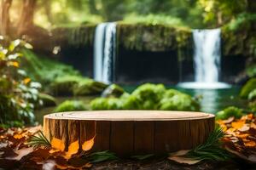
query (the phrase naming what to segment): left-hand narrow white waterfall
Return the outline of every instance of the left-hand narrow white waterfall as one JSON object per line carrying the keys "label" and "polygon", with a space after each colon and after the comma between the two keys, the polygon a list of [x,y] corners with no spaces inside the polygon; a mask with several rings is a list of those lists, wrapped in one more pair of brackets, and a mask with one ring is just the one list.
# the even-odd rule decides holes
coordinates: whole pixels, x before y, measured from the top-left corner
{"label": "left-hand narrow white waterfall", "polygon": [[94,79],[110,83],[114,80],[116,23],[101,23],[96,26],[94,40]]}

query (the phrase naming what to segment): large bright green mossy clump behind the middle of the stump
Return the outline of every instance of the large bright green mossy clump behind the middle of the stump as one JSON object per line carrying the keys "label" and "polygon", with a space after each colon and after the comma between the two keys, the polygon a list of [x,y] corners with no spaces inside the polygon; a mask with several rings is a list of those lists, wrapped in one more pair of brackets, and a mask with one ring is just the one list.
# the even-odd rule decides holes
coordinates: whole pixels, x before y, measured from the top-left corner
{"label": "large bright green mossy clump behind the middle of the stump", "polygon": [[200,105],[188,94],[174,89],[166,90],[163,84],[146,83],[131,94],[119,98],[97,98],[90,102],[92,110],[172,110],[199,111]]}

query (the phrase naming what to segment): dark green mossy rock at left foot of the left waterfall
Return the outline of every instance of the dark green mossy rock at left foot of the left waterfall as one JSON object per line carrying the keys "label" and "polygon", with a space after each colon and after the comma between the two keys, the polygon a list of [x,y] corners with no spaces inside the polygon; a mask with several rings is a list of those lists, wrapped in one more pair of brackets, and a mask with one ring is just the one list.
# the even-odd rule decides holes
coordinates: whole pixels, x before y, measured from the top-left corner
{"label": "dark green mossy rock at left foot of the left waterfall", "polygon": [[77,96],[102,94],[107,85],[102,82],[96,82],[91,79],[84,79],[77,83],[73,88],[73,94]]}

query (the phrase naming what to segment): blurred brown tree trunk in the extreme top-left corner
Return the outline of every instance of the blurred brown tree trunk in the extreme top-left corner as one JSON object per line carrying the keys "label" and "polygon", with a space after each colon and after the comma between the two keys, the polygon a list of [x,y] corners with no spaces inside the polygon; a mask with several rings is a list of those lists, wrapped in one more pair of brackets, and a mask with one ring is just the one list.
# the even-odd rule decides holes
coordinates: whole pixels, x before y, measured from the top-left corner
{"label": "blurred brown tree trunk in the extreme top-left corner", "polygon": [[7,36],[9,34],[9,8],[12,0],[2,0],[0,6],[0,34]]}

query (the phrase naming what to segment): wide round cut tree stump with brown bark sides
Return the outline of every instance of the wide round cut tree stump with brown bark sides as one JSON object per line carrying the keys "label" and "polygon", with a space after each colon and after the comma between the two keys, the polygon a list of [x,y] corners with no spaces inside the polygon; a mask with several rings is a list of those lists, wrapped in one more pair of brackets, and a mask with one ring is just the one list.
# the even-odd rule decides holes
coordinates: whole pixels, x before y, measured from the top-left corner
{"label": "wide round cut tree stump with brown bark sides", "polygon": [[69,144],[95,137],[93,151],[118,156],[164,154],[202,144],[214,129],[212,114],[189,111],[73,111],[44,116],[44,134]]}

